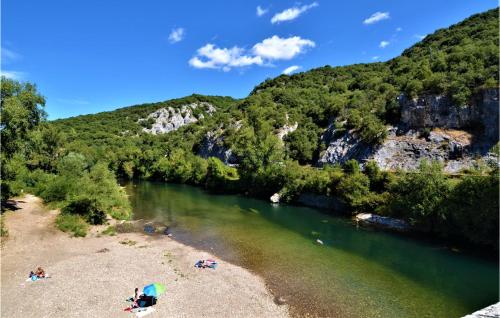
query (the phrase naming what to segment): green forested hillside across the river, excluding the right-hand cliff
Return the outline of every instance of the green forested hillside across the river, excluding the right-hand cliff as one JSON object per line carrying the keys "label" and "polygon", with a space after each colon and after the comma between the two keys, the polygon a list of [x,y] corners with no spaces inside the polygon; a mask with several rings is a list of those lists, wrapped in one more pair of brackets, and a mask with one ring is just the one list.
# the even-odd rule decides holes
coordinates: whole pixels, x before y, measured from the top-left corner
{"label": "green forested hillside across the river, excluding the right-hand cliff", "polygon": [[[12,172],[2,185],[12,194],[35,187],[46,200],[66,200],[71,210],[75,207],[68,197],[76,190],[51,178],[64,175],[72,164],[92,180],[104,164],[120,178],[189,183],[265,199],[278,193],[282,202],[300,201],[304,193],[326,196],[342,207],[337,212],[375,211],[404,218],[425,233],[498,249],[496,164],[479,160],[458,176],[424,160],[414,172],[383,171],[369,160],[362,167],[356,160],[314,167],[328,146],[328,129],[333,140],[353,136],[366,149],[382,145],[389,127],[401,124],[400,96],[440,95],[450,100],[450,107],[479,107],[482,91],[498,88],[498,32],[494,9],[436,31],[390,61],[282,75],[242,100],[192,95],[43,124],[35,129],[40,136],[26,141],[40,140],[40,151],[23,152],[15,161],[6,150],[2,166],[24,160],[26,168]],[[3,125],[4,98],[2,86]],[[158,110],[171,115],[169,107],[202,102],[215,112],[183,114],[182,125],[150,116]],[[177,126],[165,134],[144,131],[154,123]],[[6,133],[3,129],[3,140]],[[423,127],[416,134],[425,136],[429,130]],[[53,189],[54,184],[59,188]],[[53,193],[59,197],[51,199]],[[103,209],[113,207],[97,210]]]}

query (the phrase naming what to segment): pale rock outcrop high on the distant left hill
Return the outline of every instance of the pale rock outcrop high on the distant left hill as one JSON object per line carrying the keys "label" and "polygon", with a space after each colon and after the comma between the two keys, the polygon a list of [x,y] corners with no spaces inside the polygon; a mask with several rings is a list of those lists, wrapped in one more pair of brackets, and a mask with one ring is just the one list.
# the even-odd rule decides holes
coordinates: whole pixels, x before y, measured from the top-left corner
{"label": "pale rock outcrop high on the distant left hill", "polygon": [[[193,114],[195,109],[201,110],[198,118]],[[168,134],[182,126],[196,123],[198,120],[205,118],[205,115],[212,115],[216,111],[215,107],[207,102],[197,102],[188,105],[183,105],[178,108],[165,107],[149,114],[146,118],[141,118],[138,122],[153,120],[150,128],[143,128],[146,133],[153,135]]]}

